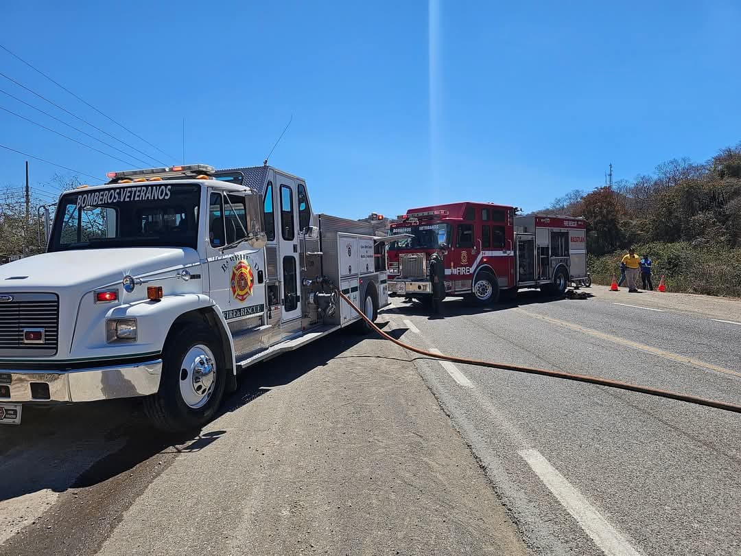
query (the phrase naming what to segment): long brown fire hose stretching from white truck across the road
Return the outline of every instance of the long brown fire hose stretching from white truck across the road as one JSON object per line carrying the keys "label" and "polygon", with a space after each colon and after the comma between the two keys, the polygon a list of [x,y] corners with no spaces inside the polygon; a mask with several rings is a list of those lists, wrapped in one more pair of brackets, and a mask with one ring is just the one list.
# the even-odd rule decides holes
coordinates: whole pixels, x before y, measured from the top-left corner
{"label": "long brown fire hose stretching from white truck across the road", "polygon": [[445,354],[435,354],[431,351],[425,351],[421,348],[415,348],[413,345],[405,344],[404,342],[401,342],[399,340],[396,340],[396,338],[389,336],[384,331],[382,331],[378,326],[375,325],[375,323],[370,320],[368,317],[363,314],[363,311],[361,311],[359,308],[355,306],[355,304],[348,299],[345,294],[342,293],[342,291],[337,290],[339,293],[339,297],[345,300],[345,302],[350,305],[350,307],[353,308],[353,311],[356,311],[357,314],[360,315],[360,317],[365,320],[365,322],[374,330],[376,331],[376,334],[379,334],[380,337],[384,338],[385,340],[389,340],[396,345],[399,345],[402,348],[408,349],[409,351],[413,351],[416,354],[424,355],[425,357],[430,357],[431,359],[436,360],[443,360],[443,361],[450,361],[451,363],[462,363],[463,365],[476,365],[479,367],[488,367],[488,368],[496,368],[501,369],[504,371],[514,371],[516,373],[528,373],[528,374],[540,374],[544,377],[554,377],[554,378],[560,378],[564,380],[575,380],[579,383],[588,383],[588,384],[597,384],[600,386],[608,386],[609,388],[618,388],[619,390],[628,390],[631,392],[640,392],[641,394],[649,394],[651,396],[657,396],[657,397],[666,397],[670,400],[679,400],[680,402],[687,402],[687,403],[694,403],[697,406],[708,406],[716,409],[723,409],[725,411],[733,411],[734,413],[741,413],[741,406],[734,405],[733,403],[725,403],[721,402],[719,400],[708,400],[707,398],[703,397],[697,397],[697,396],[688,396],[687,394],[679,394],[678,392],[672,392],[668,390],[659,390],[659,388],[650,388],[648,386],[642,386],[639,384],[631,384],[631,383],[623,383],[619,380],[609,380],[605,378],[599,378],[599,377],[591,377],[587,374],[573,374],[573,373],[563,373],[560,371],[550,371],[545,368],[533,368],[533,367],[523,367],[521,365],[511,365],[508,363],[493,363],[490,361],[479,361],[476,359],[468,359],[466,357],[455,357],[452,355],[445,355]]}

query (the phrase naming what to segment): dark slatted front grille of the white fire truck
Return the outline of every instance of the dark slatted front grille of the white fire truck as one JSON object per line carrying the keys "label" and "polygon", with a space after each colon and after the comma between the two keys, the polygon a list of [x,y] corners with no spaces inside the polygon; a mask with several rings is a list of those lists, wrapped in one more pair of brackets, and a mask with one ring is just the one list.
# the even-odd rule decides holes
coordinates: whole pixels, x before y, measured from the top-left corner
{"label": "dark slatted front grille of the white fire truck", "polygon": [[54,294],[0,295],[0,357],[53,355],[59,341],[59,299]]}

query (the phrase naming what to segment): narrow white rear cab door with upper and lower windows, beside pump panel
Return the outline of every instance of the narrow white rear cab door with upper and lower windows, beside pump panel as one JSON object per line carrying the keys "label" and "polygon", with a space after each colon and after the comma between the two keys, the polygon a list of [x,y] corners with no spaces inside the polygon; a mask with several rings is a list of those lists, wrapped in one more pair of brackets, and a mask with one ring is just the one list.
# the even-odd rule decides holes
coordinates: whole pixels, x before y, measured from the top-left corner
{"label": "narrow white rear cab door with upper and lower windows, beside pump panel", "polygon": [[301,317],[299,280],[299,230],[296,180],[276,173],[276,205],[279,215],[279,277],[283,305],[282,322]]}

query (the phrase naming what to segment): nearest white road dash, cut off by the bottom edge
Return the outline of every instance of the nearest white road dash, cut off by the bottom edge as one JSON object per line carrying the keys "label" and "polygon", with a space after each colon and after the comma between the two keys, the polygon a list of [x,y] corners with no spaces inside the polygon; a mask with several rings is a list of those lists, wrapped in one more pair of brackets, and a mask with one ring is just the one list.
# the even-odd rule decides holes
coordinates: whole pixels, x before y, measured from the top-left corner
{"label": "nearest white road dash, cut off by the bottom edge", "polygon": [[527,449],[517,453],[605,555],[639,556],[631,543],[539,451]]}

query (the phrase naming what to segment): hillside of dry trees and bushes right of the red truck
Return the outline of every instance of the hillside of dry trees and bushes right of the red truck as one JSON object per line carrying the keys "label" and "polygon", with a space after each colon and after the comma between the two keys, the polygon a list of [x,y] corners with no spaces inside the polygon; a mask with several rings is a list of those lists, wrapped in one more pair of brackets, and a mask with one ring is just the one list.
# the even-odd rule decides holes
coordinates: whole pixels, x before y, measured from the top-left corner
{"label": "hillside of dry trees and bushes right of the red truck", "polygon": [[619,273],[628,247],[654,262],[654,287],[741,297],[741,143],[708,162],[673,159],[654,173],[586,193],[571,191],[537,214],[587,219],[594,282]]}

